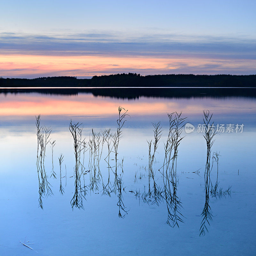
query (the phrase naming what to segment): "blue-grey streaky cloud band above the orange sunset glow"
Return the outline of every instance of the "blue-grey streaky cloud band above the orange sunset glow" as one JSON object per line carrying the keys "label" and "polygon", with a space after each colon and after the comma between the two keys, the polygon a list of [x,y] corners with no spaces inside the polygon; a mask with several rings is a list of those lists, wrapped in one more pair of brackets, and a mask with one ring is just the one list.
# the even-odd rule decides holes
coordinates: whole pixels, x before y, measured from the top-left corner
{"label": "blue-grey streaky cloud band above the orange sunset glow", "polygon": [[255,41],[252,39],[173,34],[127,36],[117,32],[63,35],[0,33],[0,48],[2,54],[256,59]]}

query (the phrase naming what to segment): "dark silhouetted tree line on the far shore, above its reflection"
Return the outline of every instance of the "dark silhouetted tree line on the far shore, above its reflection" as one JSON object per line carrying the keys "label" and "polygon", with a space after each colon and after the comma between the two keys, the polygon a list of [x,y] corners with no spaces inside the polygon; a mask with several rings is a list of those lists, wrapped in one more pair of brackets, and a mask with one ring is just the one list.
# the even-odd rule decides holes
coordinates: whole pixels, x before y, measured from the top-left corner
{"label": "dark silhouetted tree line on the far shore, above its reflection", "polygon": [[2,78],[1,87],[15,86],[92,86],[92,87],[254,87],[256,75],[148,75],[136,73],[93,76],[78,79],[76,76]]}

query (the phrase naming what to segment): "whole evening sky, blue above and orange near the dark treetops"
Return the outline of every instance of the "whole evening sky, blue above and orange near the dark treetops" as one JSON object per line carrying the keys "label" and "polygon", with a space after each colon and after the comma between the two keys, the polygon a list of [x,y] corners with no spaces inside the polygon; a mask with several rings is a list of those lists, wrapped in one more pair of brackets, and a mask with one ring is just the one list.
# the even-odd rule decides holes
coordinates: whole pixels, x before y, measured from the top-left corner
{"label": "whole evening sky, blue above and orange near the dark treetops", "polygon": [[256,1],[1,0],[0,76],[256,74]]}

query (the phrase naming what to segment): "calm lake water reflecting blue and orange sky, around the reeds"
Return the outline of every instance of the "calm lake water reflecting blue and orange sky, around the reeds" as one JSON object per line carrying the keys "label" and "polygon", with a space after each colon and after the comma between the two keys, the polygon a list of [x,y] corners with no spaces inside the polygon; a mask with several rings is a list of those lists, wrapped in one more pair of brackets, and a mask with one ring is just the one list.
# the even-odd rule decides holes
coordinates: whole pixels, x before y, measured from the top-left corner
{"label": "calm lake water reflecting blue and orange sky, around the reeds", "polygon": [[[102,195],[102,182],[104,186],[108,183],[109,169],[105,142],[99,163],[101,176],[98,175],[96,182],[98,190],[95,187],[90,189],[93,176],[90,149],[84,156],[81,152],[80,162],[83,162],[84,169],[79,171],[77,195],[70,120],[73,124],[83,123],[80,126],[84,127],[82,139],[88,143],[92,139],[92,129],[96,133],[104,129],[111,129],[112,134],[116,132],[119,106],[128,109],[129,114],[125,117],[127,121],[118,145],[117,178],[121,193],[114,189],[115,153],[112,152],[109,194]],[[208,198],[204,179],[207,147],[203,133],[198,131],[203,124],[204,109],[213,113],[216,127],[222,124],[225,128],[215,136],[212,146],[212,155],[220,152],[219,183],[217,192],[211,193],[217,178],[217,163],[213,162]],[[183,128],[176,175],[174,178],[170,176],[171,194],[173,196],[175,187],[176,201],[168,204],[164,191],[166,177],[163,179],[161,167],[169,132],[167,112],[175,111],[182,111],[181,117],[187,117],[185,122],[193,125],[195,130],[186,133]],[[57,179],[50,177],[50,143],[45,151],[46,180],[53,195],[47,196],[47,191],[42,194],[43,210],[38,201],[42,180],[38,179],[40,170],[38,172],[36,164],[35,116],[39,114],[41,126],[52,129],[50,141],[56,140],[53,170]],[[186,98],[141,96],[128,100],[96,97],[85,92],[75,95],[1,93],[0,255],[255,255],[255,114],[256,98],[250,97],[208,97],[205,94]],[[161,122],[162,127],[152,165],[155,182],[161,192],[157,198],[148,194],[147,140],[152,140],[153,151],[152,122]],[[243,124],[242,132],[236,132],[236,124],[239,128]],[[227,132],[228,127],[233,132]],[[110,145],[111,140],[113,138],[110,138]],[[60,154],[63,156],[63,195],[60,193]],[[95,166],[98,168],[97,164]],[[153,191],[152,177],[150,186]],[[80,199],[72,208],[73,196]],[[209,232],[204,229],[205,235],[199,236],[204,221],[204,214],[201,214],[207,199],[210,218],[205,226]],[[168,210],[171,217],[181,220],[177,221],[179,227],[172,227],[174,222],[170,216],[170,225],[166,224]]]}

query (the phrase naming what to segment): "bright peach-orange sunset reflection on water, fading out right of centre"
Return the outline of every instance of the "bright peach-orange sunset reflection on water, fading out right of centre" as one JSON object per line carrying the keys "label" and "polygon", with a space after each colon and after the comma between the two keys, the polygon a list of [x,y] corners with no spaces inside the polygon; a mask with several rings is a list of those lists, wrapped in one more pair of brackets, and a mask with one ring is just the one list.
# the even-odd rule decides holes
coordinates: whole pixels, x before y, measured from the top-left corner
{"label": "bright peach-orange sunset reflection on water, fading out right of centre", "polygon": [[[12,95],[13,96],[13,95]],[[93,97],[90,94],[78,96],[20,96],[19,100],[15,96],[8,96],[8,101],[1,100],[0,115],[74,115],[74,116],[108,116],[116,115],[118,106],[122,104],[119,100],[109,100],[108,98]],[[154,112],[162,112],[167,107],[175,107],[171,102],[147,102],[130,101],[123,102],[129,106],[129,113],[140,112],[136,115],[149,115]]]}

